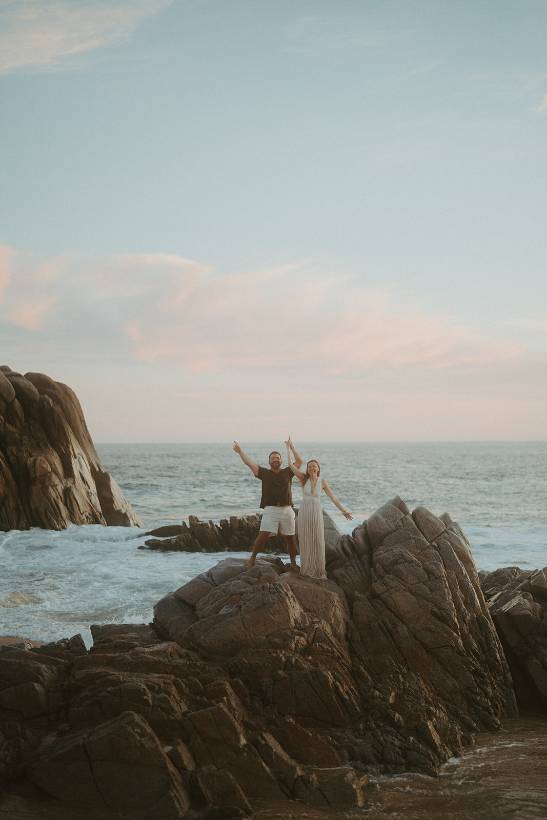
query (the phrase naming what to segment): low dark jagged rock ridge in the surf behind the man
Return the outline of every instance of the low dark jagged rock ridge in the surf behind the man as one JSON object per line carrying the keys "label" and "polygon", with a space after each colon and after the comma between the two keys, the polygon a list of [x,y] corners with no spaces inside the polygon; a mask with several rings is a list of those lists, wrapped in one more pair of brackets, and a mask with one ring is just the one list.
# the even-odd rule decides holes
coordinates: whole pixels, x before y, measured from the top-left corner
{"label": "low dark jagged rock ridge in the surf behind the man", "polygon": [[[139,549],[159,549],[185,553],[222,553],[244,552],[253,549],[253,544],[260,530],[262,514],[245,517],[230,516],[222,518],[220,526],[212,521],[200,521],[198,517],[189,516],[189,523],[162,526],[147,532],[147,535],[160,536],[144,542]],[[171,537],[166,537],[170,535]],[[271,535],[267,540],[269,553],[286,553],[287,544],[283,535]]]}

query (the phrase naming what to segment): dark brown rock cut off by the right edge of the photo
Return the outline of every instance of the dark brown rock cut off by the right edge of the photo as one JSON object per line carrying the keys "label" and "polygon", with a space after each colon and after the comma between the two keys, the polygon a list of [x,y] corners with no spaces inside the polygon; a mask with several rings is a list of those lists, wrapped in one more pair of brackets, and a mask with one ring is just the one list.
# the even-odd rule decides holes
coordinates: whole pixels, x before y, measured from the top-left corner
{"label": "dark brown rock cut off by the right edge of the photo", "polygon": [[518,704],[547,712],[547,567],[504,567],[479,574]]}

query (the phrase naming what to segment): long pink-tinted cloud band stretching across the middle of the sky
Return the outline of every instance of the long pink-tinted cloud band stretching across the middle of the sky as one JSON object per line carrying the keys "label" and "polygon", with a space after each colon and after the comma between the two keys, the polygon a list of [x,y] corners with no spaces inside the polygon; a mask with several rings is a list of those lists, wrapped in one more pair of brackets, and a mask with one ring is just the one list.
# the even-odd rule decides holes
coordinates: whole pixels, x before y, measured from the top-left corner
{"label": "long pink-tinted cloud band stretching across the middle of the sky", "polygon": [[[8,256],[7,252],[4,254]],[[525,355],[394,289],[310,263],[220,276],[176,255],[40,260],[11,252],[4,321],[59,355],[158,363],[189,373],[481,371]],[[7,280],[6,280],[7,281]]]}

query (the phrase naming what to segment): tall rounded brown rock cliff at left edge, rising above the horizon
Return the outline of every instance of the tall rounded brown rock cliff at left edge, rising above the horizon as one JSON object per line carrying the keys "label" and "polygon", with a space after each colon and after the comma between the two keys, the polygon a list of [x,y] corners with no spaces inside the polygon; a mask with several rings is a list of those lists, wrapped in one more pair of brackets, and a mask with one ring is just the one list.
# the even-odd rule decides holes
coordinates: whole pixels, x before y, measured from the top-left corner
{"label": "tall rounded brown rock cliff at left edge, rising above the horizon", "polygon": [[142,526],[93,447],[70,387],[0,367],[0,530]]}

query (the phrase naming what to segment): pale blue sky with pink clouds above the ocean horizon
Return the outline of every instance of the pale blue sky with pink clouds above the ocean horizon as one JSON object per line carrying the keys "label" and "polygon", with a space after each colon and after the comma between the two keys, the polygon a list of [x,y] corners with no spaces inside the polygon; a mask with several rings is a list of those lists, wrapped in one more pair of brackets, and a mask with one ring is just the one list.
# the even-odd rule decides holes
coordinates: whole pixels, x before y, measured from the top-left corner
{"label": "pale blue sky with pink clouds above the ocean horizon", "polygon": [[545,440],[544,0],[4,0],[0,349],[96,442]]}

